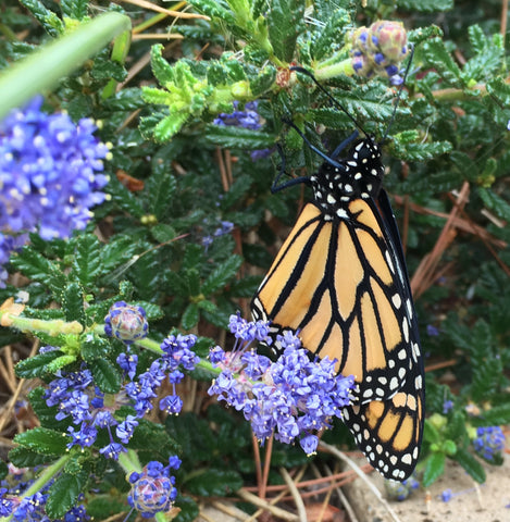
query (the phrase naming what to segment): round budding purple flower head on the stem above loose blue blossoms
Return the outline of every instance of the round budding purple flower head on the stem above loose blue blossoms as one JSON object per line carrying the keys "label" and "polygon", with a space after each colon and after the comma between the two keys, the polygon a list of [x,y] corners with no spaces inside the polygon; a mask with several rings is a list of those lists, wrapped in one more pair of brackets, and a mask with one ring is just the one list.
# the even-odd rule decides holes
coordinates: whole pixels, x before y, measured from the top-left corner
{"label": "round budding purple flower head on the stem above loose blue blossoms", "polygon": [[144,339],[148,331],[146,311],[141,307],[127,304],[124,301],[112,304],[104,318],[104,333],[126,345]]}

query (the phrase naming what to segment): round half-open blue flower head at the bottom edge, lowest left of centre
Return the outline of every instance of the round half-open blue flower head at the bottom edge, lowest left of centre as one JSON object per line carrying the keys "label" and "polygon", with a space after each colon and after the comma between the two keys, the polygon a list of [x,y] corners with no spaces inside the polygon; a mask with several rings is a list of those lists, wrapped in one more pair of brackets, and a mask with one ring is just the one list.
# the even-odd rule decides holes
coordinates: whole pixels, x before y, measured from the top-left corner
{"label": "round half-open blue flower head at the bottom edge, lowest left of centre", "polygon": [[177,470],[179,467],[181,460],[171,457],[166,467],[161,462],[150,461],[141,473],[133,472],[128,478],[132,484],[127,497],[129,506],[145,519],[169,511],[177,497],[175,476],[170,474],[170,470]]}

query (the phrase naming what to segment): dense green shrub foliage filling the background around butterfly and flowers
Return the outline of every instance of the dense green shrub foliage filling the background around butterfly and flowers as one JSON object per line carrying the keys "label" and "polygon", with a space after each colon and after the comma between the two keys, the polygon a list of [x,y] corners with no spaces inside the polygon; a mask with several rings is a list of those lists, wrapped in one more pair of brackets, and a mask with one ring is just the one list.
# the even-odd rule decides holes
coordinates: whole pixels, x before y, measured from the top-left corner
{"label": "dense green shrub foliage filling the background around butterfly and flowers", "polygon": [[[241,310],[248,316],[249,299],[308,196],[301,188],[271,195],[281,159],[273,153],[252,161],[250,152],[274,149],[279,142],[287,171],[299,173],[304,167],[310,173],[321,159],[282,117],[293,119],[324,150],[334,149],[353,130],[351,121],[331,108],[306,77],[290,85],[278,79],[290,62],[308,66],[363,129],[378,139],[389,130],[385,186],[390,196],[406,197],[414,206],[405,214],[401,198],[394,204],[398,221],[406,223],[411,276],[437,241],[445,225],[441,215],[452,210],[450,196],[469,184],[469,201],[459,214],[467,226],[457,228],[415,302],[425,364],[440,368],[444,361],[455,361],[427,373],[430,420],[420,470],[427,485],[451,458],[483,482],[484,468],[470,451],[472,428],[510,421],[506,226],[510,86],[508,34],[500,34],[501,2],[368,0],[365,8],[349,0],[188,4],[210,20],[183,18],[171,26],[170,18],[162,18],[150,29],[178,33],[182,40],[163,45],[116,40],[113,49],[105,47],[47,92],[48,110],[102,122],[101,139],[113,144],[107,166],[111,199],[96,209],[85,234],[51,243],[34,235],[30,245],[13,256],[10,271],[26,277],[23,289],[30,296],[25,314],[94,327],[113,302],[124,299],[146,307],[156,340],[177,328],[199,335],[201,356],[213,343],[228,347],[224,332],[229,314]],[[0,7],[0,66],[9,71],[38,46],[104,10],[126,13],[135,27],[157,22],[152,12],[129,4],[7,0]],[[349,30],[381,18],[402,21],[414,44],[410,74],[389,129],[396,89],[387,78],[366,80],[341,69],[348,59]],[[129,77],[127,71],[147,53],[151,66]],[[328,66],[340,73],[329,75]],[[37,67],[32,74],[37,77]],[[219,113],[233,110],[234,100],[259,100],[263,128],[214,125]],[[227,184],[219,163],[222,150],[235,158]],[[120,170],[141,181],[142,189],[133,191],[121,183],[115,175]],[[204,248],[203,238],[222,221],[234,223],[234,232],[214,237]],[[474,225],[485,235],[475,233]],[[0,290],[1,300],[17,289]],[[0,337],[2,345],[24,339],[8,328]],[[65,335],[39,337],[43,344],[69,348]],[[82,358],[94,368],[102,390],[119,389],[121,375],[114,364],[119,346],[104,346],[98,335],[72,356],[67,348],[22,362],[18,376],[48,381]],[[150,357],[146,360],[149,363]],[[187,494],[229,494],[253,481],[254,473],[248,426],[233,412],[207,406],[202,381],[210,376],[197,372],[192,377],[198,382],[198,402],[176,419],[147,423],[147,436],[139,443],[141,460],[158,456],[164,460],[170,451],[181,452],[178,520],[192,520],[197,512]],[[446,400],[453,401],[448,413],[443,410]],[[54,433],[66,426],[52,421],[53,412],[38,389],[30,401],[41,427],[17,437],[20,446],[10,455],[16,465],[48,463],[48,457],[64,452]],[[350,444],[341,426],[326,437]],[[294,448],[278,447],[273,455],[274,465],[304,460]],[[126,484],[121,471],[107,470],[100,460],[83,455],[74,456],[64,470],[67,475],[62,475],[73,477],[74,496],[62,490],[62,483],[53,486],[50,508],[55,515],[79,492],[88,492],[92,471],[102,476],[102,484],[99,494],[88,493],[90,514],[101,520],[122,509]],[[105,501],[112,490],[119,506]]]}

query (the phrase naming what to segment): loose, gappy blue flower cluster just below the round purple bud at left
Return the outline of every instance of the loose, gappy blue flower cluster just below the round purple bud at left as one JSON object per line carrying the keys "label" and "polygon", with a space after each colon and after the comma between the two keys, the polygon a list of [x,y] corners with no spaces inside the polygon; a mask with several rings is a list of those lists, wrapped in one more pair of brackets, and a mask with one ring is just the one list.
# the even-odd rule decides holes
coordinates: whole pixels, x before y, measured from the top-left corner
{"label": "loose, gappy blue flower cluster just below the round purple bud at left", "polygon": [[[159,408],[170,414],[179,413],[183,401],[175,391],[175,385],[184,378],[179,368],[194,370],[200,360],[191,350],[196,340],[195,335],[171,335],[161,344],[163,355],[138,375],[138,356],[121,353],[116,362],[124,372],[124,383],[115,395],[105,395],[95,386],[92,374],[86,366],[76,372],[60,372],[49,384],[45,399],[48,406],[58,407],[58,421],[67,418],[72,421],[67,428],[71,436],[67,448],[90,447],[96,443],[98,432],[107,430],[110,442],[99,452],[108,459],[117,460],[121,452],[127,451],[126,445],[139,419],[152,410],[158,388],[165,380],[173,391],[160,400]],[[47,350],[48,347],[45,347],[43,351]],[[119,419],[116,412],[122,406],[130,406],[135,414]]]}

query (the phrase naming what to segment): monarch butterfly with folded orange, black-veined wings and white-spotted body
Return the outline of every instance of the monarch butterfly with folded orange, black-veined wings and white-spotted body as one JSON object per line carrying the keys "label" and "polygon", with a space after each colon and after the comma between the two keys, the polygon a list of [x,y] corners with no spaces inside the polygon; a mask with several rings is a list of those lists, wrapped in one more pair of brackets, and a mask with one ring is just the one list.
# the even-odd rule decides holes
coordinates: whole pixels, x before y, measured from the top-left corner
{"label": "monarch butterfly with folded orange, black-veined wings and white-spotted body", "polygon": [[418,322],[397,223],[382,188],[381,149],[371,136],[357,137],[354,132],[331,156],[306,140],[324,159],[318,173],[279,186],[276,178],[273,191],[304,183],[313,201],[251,309],[256,320],[271,322],[273,333],[298,333],[304,348],[336,358],[339,373],[354,375],[359,389],[343,419],[370,463],[383,476],[403,481],[416,464],[424,422]]}

